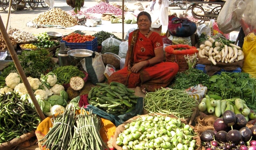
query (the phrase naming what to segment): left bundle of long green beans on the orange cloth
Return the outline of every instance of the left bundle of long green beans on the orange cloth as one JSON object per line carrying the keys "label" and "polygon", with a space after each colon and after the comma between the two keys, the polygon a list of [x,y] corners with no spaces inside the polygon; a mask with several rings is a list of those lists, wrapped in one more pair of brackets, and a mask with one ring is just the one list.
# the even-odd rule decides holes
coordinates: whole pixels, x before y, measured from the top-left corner
{"label": "left bundle of long green beans on the orange cloth", "polygon": [[[71,107],[67,107],[63,114],[57,115],[54,120],[53,127],[46,134],[46,136],[40,140],[46,140],[42,146],[46,146],[49,149],[61,149],[67,150],[68,143],[71,141],[72,132],[75,122],[75,110]],[[39,141],[39,142],[40,142]]]}

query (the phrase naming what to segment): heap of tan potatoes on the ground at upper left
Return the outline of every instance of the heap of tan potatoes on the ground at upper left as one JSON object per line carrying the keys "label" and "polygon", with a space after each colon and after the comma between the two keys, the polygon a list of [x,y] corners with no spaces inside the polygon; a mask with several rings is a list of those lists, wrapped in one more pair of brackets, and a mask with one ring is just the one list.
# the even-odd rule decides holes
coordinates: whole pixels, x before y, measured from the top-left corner
{"label": "heap of tan potatoes on the ground at upper left", "polygon": [[76,18],[67,14],[67,12],[60,8],[53,8],[48,12],[44,12],[36,17],[32,22],[42,25],[60,25],[64,28],[77,25]]}

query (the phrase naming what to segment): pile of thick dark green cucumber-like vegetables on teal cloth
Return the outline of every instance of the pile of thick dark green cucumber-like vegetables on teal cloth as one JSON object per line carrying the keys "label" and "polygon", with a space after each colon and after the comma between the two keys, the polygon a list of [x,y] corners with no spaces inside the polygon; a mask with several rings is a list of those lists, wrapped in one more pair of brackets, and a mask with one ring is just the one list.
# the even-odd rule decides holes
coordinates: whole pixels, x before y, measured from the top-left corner
{"label": "pile of thick dark green cucumber-like vegetables on teal cloth", "polygon": [[109,114],[120,115],[132,111],[137,103],[135,91],[118,82],[98,83],[88,93],[88,103]]}

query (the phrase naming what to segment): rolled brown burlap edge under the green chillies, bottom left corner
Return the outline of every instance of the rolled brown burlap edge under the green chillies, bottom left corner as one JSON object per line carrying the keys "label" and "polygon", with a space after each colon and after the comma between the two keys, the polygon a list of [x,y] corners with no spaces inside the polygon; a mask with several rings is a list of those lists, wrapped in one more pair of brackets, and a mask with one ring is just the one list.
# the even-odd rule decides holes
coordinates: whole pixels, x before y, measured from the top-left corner
{"label": "rolled brown burlap edge under the green chillies, bottom left corner", "polygon": [[0,144],[0,150],[14,150],[16,148],[27,148],[37,142],[35,131],[25,133],[20,138],[14,138],[11,141]]}

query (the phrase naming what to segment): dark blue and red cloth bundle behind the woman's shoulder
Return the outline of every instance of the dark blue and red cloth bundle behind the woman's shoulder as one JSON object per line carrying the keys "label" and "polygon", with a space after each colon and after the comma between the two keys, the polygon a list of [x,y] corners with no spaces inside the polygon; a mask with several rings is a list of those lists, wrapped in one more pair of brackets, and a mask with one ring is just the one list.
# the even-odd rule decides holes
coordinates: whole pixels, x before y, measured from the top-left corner
{"label": "dark blue and red cloth bundle behind the woman's shoulder", "polygon": [[188,18],[174,17],[168,24],[168,31],[173,36],[188,37],[196,32],[196,23]]}

